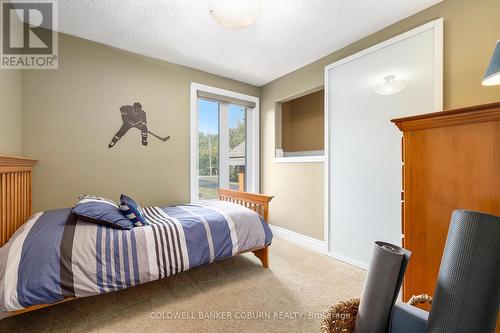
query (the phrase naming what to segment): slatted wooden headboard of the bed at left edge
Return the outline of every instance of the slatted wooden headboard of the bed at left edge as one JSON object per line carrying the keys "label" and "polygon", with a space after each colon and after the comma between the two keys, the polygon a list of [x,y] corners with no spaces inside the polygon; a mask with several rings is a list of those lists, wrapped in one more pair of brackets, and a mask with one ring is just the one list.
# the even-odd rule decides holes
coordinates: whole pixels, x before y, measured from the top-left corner
{"label": "slatted wooden headboard of the bed at left edge", "polygon": [[31,216],[31,170],[36,160],[0,155],[0,246]]}

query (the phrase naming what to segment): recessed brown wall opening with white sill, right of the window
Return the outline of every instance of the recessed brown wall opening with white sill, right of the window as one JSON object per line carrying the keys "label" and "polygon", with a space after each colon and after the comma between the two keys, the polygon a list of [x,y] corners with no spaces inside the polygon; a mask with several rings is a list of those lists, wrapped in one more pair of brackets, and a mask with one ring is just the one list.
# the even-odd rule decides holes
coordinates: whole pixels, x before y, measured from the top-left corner
{"label": "recessed brown wall opening with white sill, right of the window", "polygon": [[324,159],[324,90],[276,104],[276,161]]}

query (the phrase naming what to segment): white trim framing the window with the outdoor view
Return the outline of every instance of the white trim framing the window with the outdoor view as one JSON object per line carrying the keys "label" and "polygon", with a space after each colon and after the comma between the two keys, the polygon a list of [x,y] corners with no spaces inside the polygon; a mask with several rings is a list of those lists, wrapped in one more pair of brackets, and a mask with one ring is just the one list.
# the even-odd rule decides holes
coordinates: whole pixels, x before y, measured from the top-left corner
{"label": "white trim framing the window with the outdoor view", "polygon": [[247,170],[246,187],[248,192],[259,193],[259,102],[255,96],[245,95],[230,90],[191,82],[191,161],[190,161],[190,197],[191,202],[198,202],[198,91],[227,96],[255,103],[247,108]]}

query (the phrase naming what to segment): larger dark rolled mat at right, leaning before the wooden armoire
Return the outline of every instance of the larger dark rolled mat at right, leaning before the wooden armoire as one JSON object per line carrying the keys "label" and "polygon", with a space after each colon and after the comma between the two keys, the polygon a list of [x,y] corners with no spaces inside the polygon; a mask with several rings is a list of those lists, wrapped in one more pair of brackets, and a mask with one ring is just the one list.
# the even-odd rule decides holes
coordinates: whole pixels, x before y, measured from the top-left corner
{"label": "larger dark rolled mat at right, leaning before the wooden armoire", "polygon": [[500,299],[500,217],[455,210],[428,332],[494,332]]}

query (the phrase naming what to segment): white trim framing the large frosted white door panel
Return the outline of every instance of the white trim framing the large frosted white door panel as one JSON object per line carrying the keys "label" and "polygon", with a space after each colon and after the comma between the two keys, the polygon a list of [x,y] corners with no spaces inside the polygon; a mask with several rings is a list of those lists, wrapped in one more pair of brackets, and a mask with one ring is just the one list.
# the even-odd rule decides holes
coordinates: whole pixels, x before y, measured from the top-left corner
{"label": "white trim framing the large frosted white door panel", "polygon": [[338,255],[335,253],[331,252],[331,239],[330,239],[330,158],[329,156],[331,155],[330,149],[329,149],[329,141],[330,141],[330,122],[329,122],[329,86],[330,86],[330,78],[329,78],[329,71],[332,68],[338,67],[342,64],[345,64],[347,62],[353,61],[355,59],[358,59],[360,57],[363,57],[367,54],[373,53],[379,49],[382,49],[384,47],[387,47],[389,45],[398,43],[404,39],[413,37],[419,33],[428,31],[428,30],[434,30],[434,111],[441,111],[443,110],[443,18],[439,18],[437,20],[428,22],[424,25],[421,25],[415,29],[412,29],[410,31],[407,31],[405,33],[402,33],[396,37],[393,37],[391,39],[388,39],[384,42],[381,42],[379,44],[376,44],[372,47],[369,47],[367,49],[364,49],[358,53],[355,53],[349,57],[343,58],[339,61],[336,61],[328,66],[325,67],[325,73],[324,73],[324,80],[325,80],[325,162],[324,162],[324,167],[325,167],[325,219],[324,219],[324,239],[327,244],[328,252],[329,255],[337,258],[342,261],[349,262],[357,267],[366,269],[366,266],[363,264],[360,264],[358,262],[354,261],[349,261],[346,258],[340,258]]}

